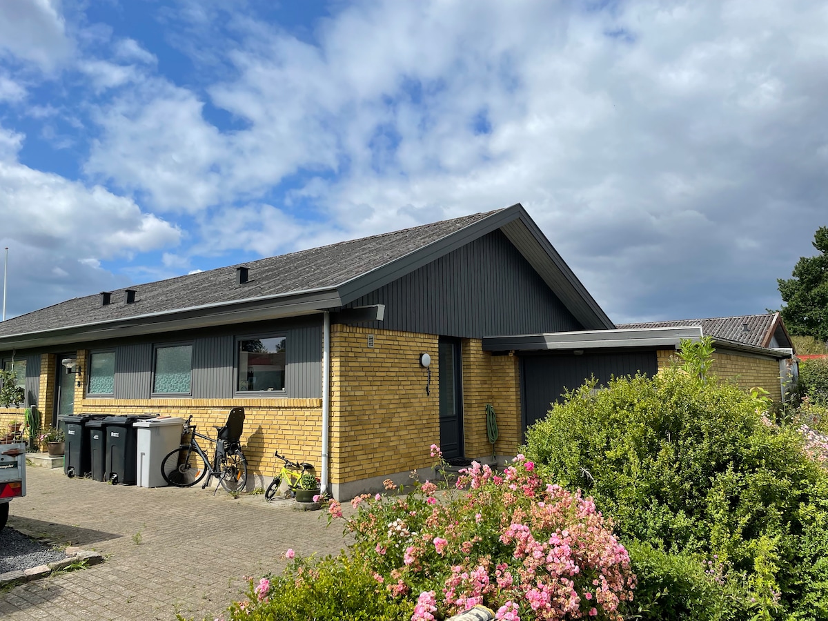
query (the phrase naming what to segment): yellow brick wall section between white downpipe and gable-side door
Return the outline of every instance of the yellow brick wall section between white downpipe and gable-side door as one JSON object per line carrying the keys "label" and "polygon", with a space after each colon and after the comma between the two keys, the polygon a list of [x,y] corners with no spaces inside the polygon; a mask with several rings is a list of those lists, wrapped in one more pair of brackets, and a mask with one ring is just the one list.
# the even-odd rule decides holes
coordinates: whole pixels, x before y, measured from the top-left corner
{"label": "yellow brick wall section between white downpipe and gable-side door", "polygon": [[[330,344],[331,483],[433,465],[429,446],[440,443],[437,337],[335,324]],[[431,355],[431,395],[419,363],[424,352]]]}

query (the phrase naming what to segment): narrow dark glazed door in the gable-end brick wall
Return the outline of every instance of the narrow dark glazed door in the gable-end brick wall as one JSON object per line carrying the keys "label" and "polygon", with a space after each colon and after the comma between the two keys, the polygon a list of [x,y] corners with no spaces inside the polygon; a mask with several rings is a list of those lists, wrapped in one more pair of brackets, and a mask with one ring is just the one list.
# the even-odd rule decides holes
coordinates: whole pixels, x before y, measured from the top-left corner
{"label": "narrow dark glazed door in the gable-end brick wall", "polygon": [[463,457],[463,388],[460,341],[440,337],[440,449],[451,460]]}

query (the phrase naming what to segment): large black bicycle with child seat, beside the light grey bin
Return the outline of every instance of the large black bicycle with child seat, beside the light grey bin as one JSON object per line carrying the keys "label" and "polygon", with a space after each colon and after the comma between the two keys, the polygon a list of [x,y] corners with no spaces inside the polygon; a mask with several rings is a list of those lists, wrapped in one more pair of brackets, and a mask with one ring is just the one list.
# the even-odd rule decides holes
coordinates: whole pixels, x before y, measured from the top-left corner
{"label": "large black bicycle with child seat, beside the light grey bin", "polygon": [[[184,435],[190,434],[190,440],[182,442],[177,449],[171,450],[161,461],[161,476],[164,480],[177,488],[189,488],[204,479],[201,485],[205,489],[210,479],[219,479],[219,484],[228,493],[238,493],[244,489],[248,481],[248,460],[242,452],[242,445],[238,441],[242,436],[244,426],[244,408],[233,407],[223,427],[215,426],[216,439],[195,431],[191,424],[193,416],[184,423]],[[196,438],[207,440],[215,445],[212,462],[201,448]],[[219,490],[219,485],[215,486]],[[215,494],[215,492],[213,492]]]}

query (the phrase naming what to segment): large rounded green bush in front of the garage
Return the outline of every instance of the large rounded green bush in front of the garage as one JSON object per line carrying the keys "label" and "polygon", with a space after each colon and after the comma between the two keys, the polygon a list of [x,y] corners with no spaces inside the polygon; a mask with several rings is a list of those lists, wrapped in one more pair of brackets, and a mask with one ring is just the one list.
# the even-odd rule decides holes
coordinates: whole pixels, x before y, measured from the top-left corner
{"label": "large rounded green bush in front of the garage", "polygon": [[[659,580],[680,579],[705,601],[709,585],[686,568],[695,558],[729,593],[720,618],[750,608],[759,619],[828,619],[828,574],[814,569],[828,558],[828,539],[813,528],[826,521],[826,473],[795,427],[765,421],[738,388],[677,368],[593,388],[570,393],[533,426],[526,453],[547,478],[593,495],[638,551],[639,597],[655,599],[644,618],[677,618],[676,601],[655,598]],[[678,556],[657,561],[633,542]]]}

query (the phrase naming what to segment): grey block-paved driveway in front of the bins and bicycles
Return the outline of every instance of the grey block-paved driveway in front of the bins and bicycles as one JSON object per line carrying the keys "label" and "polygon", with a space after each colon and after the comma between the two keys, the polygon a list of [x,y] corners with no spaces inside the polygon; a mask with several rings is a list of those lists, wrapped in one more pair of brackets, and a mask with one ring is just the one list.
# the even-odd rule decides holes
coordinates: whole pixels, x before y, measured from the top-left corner
{"label": "grey block-paved driveway in front of the bins and bicycles", "polygon": [[213,619],[241,599],[243,575],[282,570],[288,548],[324,556],[346,545],[341,522],[325,527],[323,512],[294,511],[292,501],[109,485],[60,469],[26,475],[9,526],[107,560],[0,594],[2,619]]}

